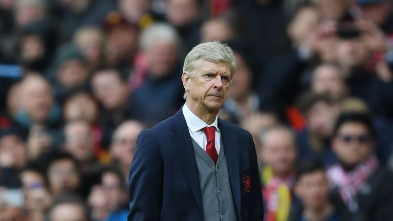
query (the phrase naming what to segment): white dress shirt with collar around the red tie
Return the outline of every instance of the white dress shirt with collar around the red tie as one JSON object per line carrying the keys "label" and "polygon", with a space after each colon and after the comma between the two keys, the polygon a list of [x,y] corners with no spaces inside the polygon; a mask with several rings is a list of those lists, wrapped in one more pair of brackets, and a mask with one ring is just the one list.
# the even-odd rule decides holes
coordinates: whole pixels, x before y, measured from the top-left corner
{"label": "white dress shirt with collar around the red tie", "polygon": [[192,113],[190,111],[190,109],[187,106],[187,103],[185,103],[183,105],[182,111],[183,111],[184,118],[186,119],[186,123],[188,126],[188,132],[190,132],[191,138],[194,139],[195,141],[197,141],[197,143],[205,151],[206,151],[206,145],[207,145],[207,138],[206,138],[205,132],[202,131],[201,129],[204,127],[210,127],[210,126],[215,127],[214,146],[215,146],[215,149],[217,150],[217,153],[219,153],[220,152],[221,134],[220,134],[220,129],[217,126],[217,119],[218,119],[217,116],[215,116],[214,122],[212,124],[208,125],[207,123],[205,123],[203,120],[201,120],[199,117],[197,117],[196,115],[194,115],[194,113]]}

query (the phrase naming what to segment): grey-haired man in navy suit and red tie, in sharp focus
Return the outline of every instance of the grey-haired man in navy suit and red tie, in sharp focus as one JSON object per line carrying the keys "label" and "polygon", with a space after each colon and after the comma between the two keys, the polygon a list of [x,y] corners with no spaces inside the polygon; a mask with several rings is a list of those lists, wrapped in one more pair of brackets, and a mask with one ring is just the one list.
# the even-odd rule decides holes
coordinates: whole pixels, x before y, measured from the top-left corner
{"label": "grey-haired man in navy suit and red tie, in sharp focus", "polygon": [[232,50],[220,42],[189,52],[182,74],[186,104],[138,137],[128,221],[263,218],[252,137],[217,118],[235,68]]}

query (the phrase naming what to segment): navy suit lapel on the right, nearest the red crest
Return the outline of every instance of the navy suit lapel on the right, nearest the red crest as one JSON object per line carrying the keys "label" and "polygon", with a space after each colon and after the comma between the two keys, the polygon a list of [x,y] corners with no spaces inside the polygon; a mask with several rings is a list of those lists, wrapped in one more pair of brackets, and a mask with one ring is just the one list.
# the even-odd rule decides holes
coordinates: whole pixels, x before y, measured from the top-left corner
{"label": "navy suit lapel on the right, nearest the red crest", "polygon": [[233,194],[233,200],[235,202],[238,220],[241,219],[241,196],[240,196],[240,178],[239,178],[239,160],[238,160],[238,148],[237,139],[228,126],[225,127],[219,119],[219,128],[221,131],[221,140],[223,141],[225,148],[225,157],[227,159],[229,181],[231,183],[231,189]]}

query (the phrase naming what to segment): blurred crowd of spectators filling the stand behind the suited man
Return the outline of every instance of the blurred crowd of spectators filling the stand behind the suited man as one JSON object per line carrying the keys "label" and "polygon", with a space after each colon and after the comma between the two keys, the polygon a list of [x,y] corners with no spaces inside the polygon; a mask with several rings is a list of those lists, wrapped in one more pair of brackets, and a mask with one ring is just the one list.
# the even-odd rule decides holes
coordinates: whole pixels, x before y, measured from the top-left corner
{"label": "blurred crowd of spectators filling the stand behind the suited man", "polygon": [[137,136],[213,40],[266,221],[393,220],[390,0],[0,0],[0,220],[126,220]]}

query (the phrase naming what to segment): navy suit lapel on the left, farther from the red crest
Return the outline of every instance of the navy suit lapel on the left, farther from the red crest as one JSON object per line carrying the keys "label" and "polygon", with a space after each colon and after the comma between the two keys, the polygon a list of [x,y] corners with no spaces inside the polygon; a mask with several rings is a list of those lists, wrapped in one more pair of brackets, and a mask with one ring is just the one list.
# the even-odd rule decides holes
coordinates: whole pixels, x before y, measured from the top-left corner
{"label": "navy suit lapel on the left, farther from the red crest", "polygon": [[179,155],[180,163],[182,164],[184,174],[195,198],[195,202],[197,202],[199,210],[201,214],[203,214],[202,194],[199,183],[197,162],[195,161],[194,149],[192,147],[191,137],[182,109],[174,115],[171,129],[175,133],[172,136],[174,148]]}

